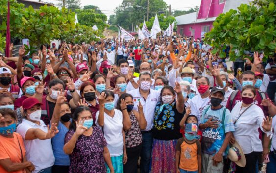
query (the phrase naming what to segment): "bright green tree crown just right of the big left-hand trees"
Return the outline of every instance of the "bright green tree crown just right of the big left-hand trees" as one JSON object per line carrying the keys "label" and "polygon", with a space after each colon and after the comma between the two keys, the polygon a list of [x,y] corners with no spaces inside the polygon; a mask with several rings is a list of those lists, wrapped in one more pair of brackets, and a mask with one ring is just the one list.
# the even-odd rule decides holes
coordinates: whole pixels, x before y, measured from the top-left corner
{"label": "bright green tree crown just right of the big left-hand trees", "polygon": [[82,25],[93,26],[97,25],[100,31],[103,31],[108,25],[106,24],[107,17],[105,14],[98,14],[94,9],[76,9],[78,22]]}

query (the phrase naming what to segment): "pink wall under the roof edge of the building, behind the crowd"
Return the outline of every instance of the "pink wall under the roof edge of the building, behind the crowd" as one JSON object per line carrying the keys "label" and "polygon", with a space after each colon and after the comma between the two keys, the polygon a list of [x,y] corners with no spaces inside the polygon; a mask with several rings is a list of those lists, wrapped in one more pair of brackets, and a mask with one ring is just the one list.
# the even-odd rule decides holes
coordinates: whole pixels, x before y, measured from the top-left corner
{"label": "pink wall under the roof edge of the building, behind the crowd", "polygon": [[200,38],[201,37],[201,32],[202,32],[202,26],[210,26],[210,30],[213,27],[213,22],[204,22],[204,23],[195,23],[195,24],[186,24],[186,25],[177,25],[177,34],[180,35],[180,29],[183,28],[184,35],[185,36],[191,36],[191,31],[190,27],[192,29],[195,29],[195,38]]}

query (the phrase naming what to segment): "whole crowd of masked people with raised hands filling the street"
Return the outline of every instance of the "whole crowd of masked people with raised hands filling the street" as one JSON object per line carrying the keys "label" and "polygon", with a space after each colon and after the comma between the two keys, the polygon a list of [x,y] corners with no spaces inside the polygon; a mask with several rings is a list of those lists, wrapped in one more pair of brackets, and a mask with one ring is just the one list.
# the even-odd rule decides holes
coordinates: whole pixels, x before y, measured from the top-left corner
{"label": "whole crowd of masked people with raised hands filling the street", "polygon": [[203,39],[0,54],[0,173],[276,173],[276,54]]}

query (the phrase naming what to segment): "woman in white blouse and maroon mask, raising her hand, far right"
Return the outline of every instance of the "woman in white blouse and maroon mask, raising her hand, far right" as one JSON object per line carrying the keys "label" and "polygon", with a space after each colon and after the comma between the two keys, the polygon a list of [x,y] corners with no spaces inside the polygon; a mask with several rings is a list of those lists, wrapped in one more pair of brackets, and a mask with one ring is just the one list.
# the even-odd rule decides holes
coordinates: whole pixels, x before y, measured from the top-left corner
{"label": "woman in white blouse and maroon mask, raising her hand, far right", "polygon": [[270,135],[271,121],[268,117],[265,118],[262,109],[254,104],[256,90],[253,86],[244,86],[241,97],[242,102],[234,106],[231,116],[235,125],[234,138],[243,149],[246,165],[236,165],[235,173],[256,173],[258,156],[263,151],[258,129],[266,133],[265,135]]}

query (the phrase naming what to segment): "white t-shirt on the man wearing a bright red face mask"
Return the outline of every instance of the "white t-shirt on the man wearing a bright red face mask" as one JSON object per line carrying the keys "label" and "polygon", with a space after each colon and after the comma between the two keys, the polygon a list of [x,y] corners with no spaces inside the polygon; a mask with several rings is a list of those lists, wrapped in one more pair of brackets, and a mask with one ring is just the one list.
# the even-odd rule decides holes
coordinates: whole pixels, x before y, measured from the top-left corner
{"label": "white t-shirt on the man wearing a bright red face mask", "polygon": [[210,98],[201,98],[201,95],[198,94],[191,100],[191,114],[197,116],[198,122],[201,119],[201,113],[203,112],[204,108],[208,105],[211,105]]}

